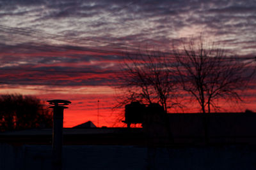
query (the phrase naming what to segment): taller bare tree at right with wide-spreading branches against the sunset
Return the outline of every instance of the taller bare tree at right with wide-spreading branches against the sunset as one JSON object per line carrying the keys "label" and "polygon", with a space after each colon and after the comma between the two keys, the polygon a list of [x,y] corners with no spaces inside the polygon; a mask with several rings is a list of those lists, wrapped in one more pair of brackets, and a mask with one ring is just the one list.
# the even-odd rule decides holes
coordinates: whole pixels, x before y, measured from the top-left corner
{"label": "taller bare tree at right with wide-spreading branches against the sunset", "polygon": [[218,99],[241,101],[239,92],[255,73],[248,63],[227,57],[225,50],[218,47],[200,36],[183,43],[182,53],[174,50],[183,90],[200,104],[203,113],[218,109]]}

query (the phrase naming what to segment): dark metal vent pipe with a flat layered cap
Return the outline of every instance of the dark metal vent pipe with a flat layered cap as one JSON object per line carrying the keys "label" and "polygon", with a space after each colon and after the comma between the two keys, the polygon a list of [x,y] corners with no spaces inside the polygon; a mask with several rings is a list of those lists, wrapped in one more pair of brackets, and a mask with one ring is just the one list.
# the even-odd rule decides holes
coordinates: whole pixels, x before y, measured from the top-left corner
{"label": "dark metal vent pipe with a flat layered cap", "polygon": [[50,108],[53,109],[53,129],[52,129],[52,169],[62,169],[62,144],[63,144],[63,111],[68,108],[66,105],[70,101],[51,100],[47,101],[52,104]]}

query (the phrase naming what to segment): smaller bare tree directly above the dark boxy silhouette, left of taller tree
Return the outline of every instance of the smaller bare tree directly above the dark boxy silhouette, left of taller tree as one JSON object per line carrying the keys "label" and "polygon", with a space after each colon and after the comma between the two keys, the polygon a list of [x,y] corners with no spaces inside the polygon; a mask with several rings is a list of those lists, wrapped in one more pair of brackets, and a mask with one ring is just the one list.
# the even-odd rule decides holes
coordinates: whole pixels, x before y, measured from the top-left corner
{"label": "smaller bare tree directly above the dark boxy silhouette, left of taller tree", "polygon": [[123,93],[118,96],[119,106],[131,101],[145,104],[159,103],[167,111],[177,105],[177,86],[170,64],[161,52],[127,53],[118,76]]}

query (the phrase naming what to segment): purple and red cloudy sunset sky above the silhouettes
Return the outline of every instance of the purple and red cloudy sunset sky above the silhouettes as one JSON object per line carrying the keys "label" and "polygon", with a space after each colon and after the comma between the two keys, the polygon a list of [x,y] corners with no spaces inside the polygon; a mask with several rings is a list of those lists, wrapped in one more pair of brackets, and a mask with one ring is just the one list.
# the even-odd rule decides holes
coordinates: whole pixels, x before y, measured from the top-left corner
{"label": "purple and red cloudy sunset sky above the silhouettes", "polygon": [[[115,126],[115,73],[124,52],[149,46],[171,53],[173,41],[204,32],[253,62],[255,28],[255,0],[0,1],[0,94],[72,101],[65,127],[97,125],[99,105],[99,126]],[[236,111],[256,111],[255,81]]]}

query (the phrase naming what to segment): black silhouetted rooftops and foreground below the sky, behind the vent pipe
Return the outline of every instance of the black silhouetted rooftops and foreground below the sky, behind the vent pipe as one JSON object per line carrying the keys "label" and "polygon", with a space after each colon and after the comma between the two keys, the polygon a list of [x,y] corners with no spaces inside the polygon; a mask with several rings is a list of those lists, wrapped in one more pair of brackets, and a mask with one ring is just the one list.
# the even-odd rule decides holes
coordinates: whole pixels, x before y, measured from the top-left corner
{"label": "black silhouetted rooftops and foreground below the sky, behind the vent pipe", "polygon": [[[64,128],[62,169],[256,169],[255,113],[148,110],[143,128]],[[2,132],[0,141],[1,169],[51,169],[51,129]]]}

